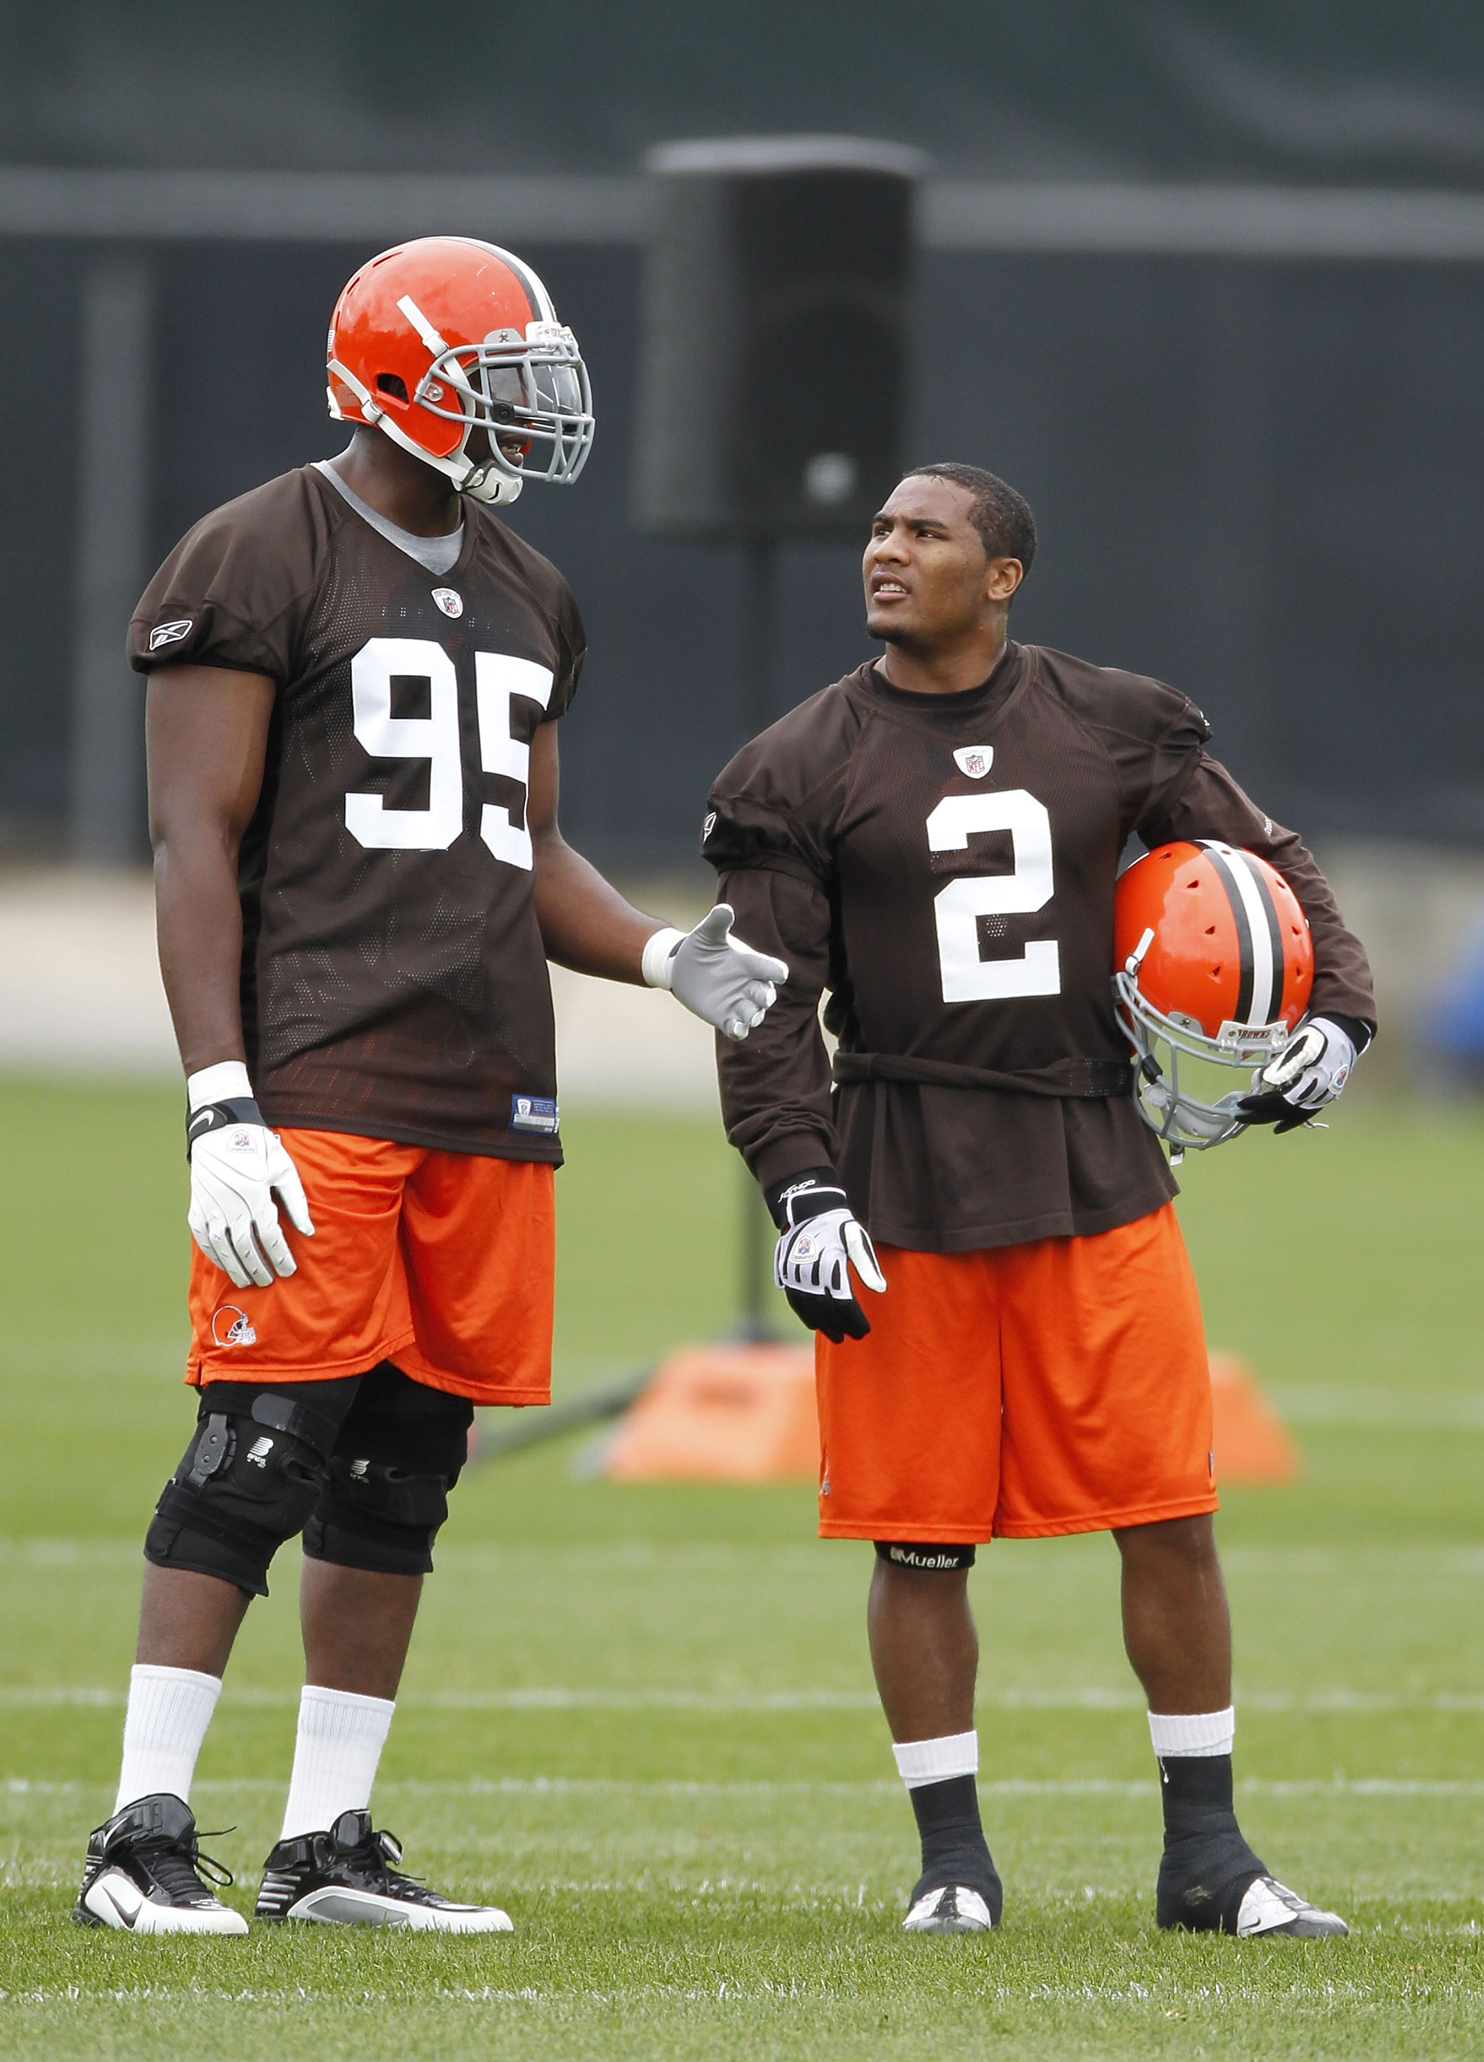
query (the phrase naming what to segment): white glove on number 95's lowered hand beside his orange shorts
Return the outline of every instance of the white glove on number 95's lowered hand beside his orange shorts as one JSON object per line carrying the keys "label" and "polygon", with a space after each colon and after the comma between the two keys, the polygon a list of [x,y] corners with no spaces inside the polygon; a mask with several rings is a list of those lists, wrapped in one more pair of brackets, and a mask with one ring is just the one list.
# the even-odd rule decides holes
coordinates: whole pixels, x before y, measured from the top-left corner
{"label": "white glove on number 95's lowered hand beside his orange shorts", "polygon": [[268,1289],[293,1274],[295,1256],[278,1223],[278,1192],[295,1231],[313,1237],[299,1169],[254,1101],[241,1060],[204,1066],[185,1083],[185,1159],[192,1169],[192,1237],[239,1289]]}

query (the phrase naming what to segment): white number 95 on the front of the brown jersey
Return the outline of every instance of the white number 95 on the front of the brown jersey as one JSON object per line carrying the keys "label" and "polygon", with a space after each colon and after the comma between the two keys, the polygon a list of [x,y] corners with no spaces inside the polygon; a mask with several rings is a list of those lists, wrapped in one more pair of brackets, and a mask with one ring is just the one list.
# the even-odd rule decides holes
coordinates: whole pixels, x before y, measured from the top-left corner
{"label": "white number 95 on the front of the brown jersey", "polygon": [[[427,716],[392,716],[392,680],[429,685]],[[511,697],[524,695],[542,709],[550,701],[550,666],[505,652],[474,654],[474,703],[480,732],[480,767],[519,781],[513,806],[486,802],[480,837],[509,866],[532,868],[526,827],[530,744],[511,736]],[[431,637],[371,637],[350,660],[350,705],[357,742],[371,759],[427,759],[429,806],[390,808],[371,792],[346,794],[346,831],[373,852],[447,852],[464,829],[464,763],[460,753],[458,674],[443,645]],[[519,821],[517,821],[519,819]]]}

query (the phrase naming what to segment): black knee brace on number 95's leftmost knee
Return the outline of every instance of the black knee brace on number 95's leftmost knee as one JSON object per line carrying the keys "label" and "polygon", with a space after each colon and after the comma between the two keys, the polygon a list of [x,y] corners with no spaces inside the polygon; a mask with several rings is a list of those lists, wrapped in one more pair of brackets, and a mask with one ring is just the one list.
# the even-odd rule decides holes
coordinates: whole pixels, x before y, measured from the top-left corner
{"label": "black knee brace on number 95's leftmost knee", "polygon": [[319,1501],[334,1425],[291,1396],[212,1386],[196,1435],[165,1485],[144,1559],[218,1575],[268,1596],[268,1563]]}

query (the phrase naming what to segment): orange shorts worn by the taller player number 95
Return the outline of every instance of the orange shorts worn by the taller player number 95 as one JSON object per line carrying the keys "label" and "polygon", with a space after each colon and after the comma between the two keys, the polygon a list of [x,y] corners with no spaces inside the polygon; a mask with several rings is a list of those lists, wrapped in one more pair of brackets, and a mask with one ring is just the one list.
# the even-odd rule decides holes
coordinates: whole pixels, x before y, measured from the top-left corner
{"label": "orange shorts worn by the taller player number 95", "polygon": [[280,1208],[299,1272],[268,1289],[239,1289],[192,1245],[188,1382],[322,1382],[396,1361],[476,1404],[550,1402],[554,1167],[278,1136],[315,1233]]}

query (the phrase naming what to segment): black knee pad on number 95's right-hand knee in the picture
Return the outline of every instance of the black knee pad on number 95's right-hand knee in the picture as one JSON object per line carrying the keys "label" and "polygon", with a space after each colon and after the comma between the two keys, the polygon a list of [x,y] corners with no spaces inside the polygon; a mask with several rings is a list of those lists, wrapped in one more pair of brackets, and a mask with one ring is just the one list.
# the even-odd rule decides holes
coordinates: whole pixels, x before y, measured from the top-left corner
{"label": "black knee pad on number 95's right-hand knee in the picture", "polygon": [[371,1369],[305,1524],[305,1555],[377,1575],[431,1573],[472,1421],[468,1398],[410,1382],[390,1361]]}

